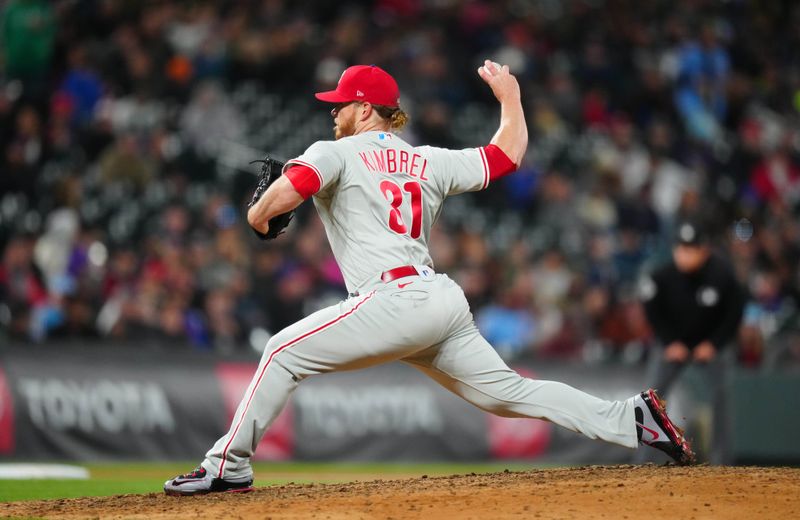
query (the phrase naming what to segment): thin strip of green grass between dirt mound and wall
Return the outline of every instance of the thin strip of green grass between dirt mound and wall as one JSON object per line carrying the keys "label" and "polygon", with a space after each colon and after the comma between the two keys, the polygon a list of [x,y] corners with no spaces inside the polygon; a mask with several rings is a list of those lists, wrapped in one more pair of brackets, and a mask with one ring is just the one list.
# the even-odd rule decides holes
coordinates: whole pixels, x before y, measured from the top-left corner
{"label": "thin strip of green grass between dirt mound and wall", "polygon": [[[186,464],[109,463],[87,464],[88,480],[0,480],[0,502],[109,496],[129,493],[160,493],[164,481],[193,467]],[[525,463],[255,463],[256,486],[294,483],[336,483],[353,480],[419,477],[421,475],[453,475],[458,473],[491,473],[509,469],[530,469]]]}

